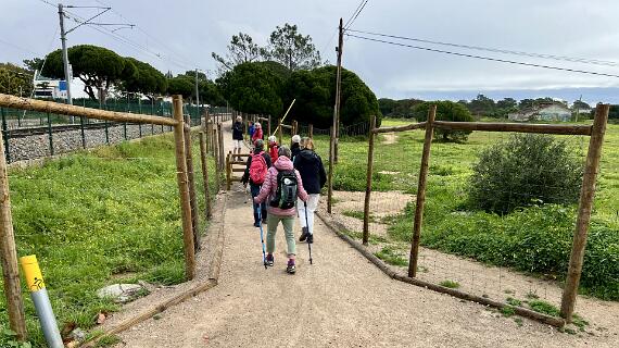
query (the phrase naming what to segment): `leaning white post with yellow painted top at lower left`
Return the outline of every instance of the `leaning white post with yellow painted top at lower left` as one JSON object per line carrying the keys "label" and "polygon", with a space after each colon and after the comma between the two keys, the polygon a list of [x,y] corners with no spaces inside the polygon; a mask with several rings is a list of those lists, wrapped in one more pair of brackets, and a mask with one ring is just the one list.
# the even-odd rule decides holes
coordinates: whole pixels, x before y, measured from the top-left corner
{"label": "leaning white post with yellow painted top at lower left", "polygon": [[30,297],[37,310],[37,316],[39,316],[48,347],[63,348],[64,345],[60,336],[60,331],[58,330],[58,323],[51,308],[50,298],[46,289],[46,283],[37,257],[34,254],[22,257],[20,262],[22,263],[26,284],[30,289]]}

